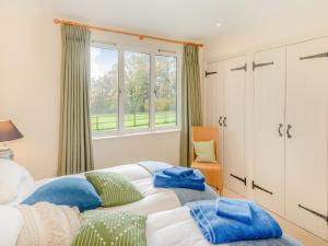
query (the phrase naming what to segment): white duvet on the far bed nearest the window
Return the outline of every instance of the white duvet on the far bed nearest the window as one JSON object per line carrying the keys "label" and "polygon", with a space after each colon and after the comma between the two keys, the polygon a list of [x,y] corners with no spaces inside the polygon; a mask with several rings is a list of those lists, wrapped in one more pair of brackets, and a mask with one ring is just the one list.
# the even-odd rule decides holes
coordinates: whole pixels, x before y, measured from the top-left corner
{"label": "white duvet on the far bed nearest the window", "polygon": [[[112,208],[99,208],[106,210],[128,210],[137,213],[151,214],[164,210],[169,210],[180,207],[180,202],[174,191],[169,189],[155,188],[153,186],[152,176],[143,167],[138,164],[127,164],[115,167],[109,167],[102,169],[103,172],[115,172],[124,175],[128,178],[138,190],[144,196],[143,199],[137,202],[132,202],[125,206],[112,207]],[[72,175],[74,177],[85,178],[83,174]],[[27,192],[25,196],[19,197],[14,201],[8,204],[19,204],[25,198],[27,198],[32,192],[34,192],[38,187],[59,179],[62,177],[56,178],[46,178],[35,183],[35,186]]]}

